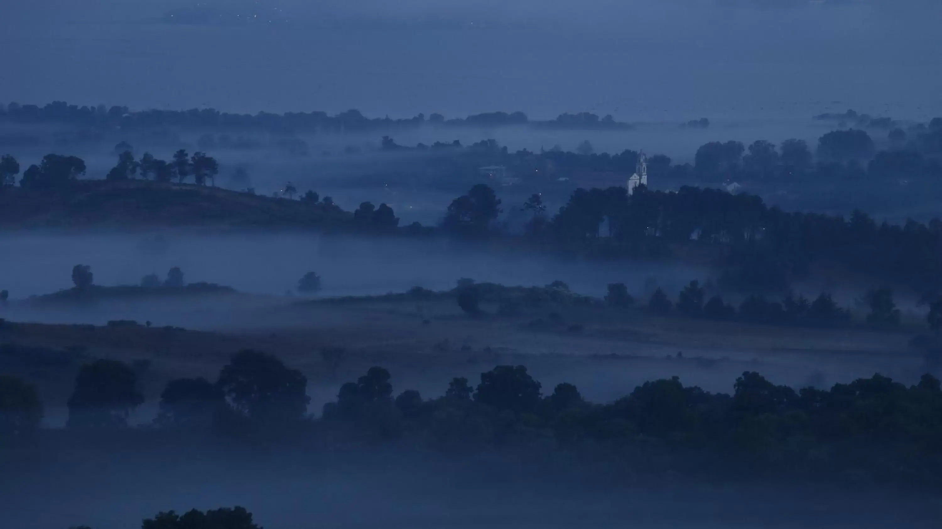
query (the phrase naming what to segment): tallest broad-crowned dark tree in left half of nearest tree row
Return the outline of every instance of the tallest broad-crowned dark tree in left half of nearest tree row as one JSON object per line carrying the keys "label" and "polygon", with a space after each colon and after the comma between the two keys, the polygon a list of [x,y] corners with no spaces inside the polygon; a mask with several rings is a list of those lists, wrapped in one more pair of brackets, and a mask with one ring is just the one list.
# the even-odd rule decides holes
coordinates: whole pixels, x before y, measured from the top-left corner
{"label": "tallest broad-crowned dark tree in left half of nearest tree row", "polygon": [[217,387],[235,410],[256,422],[300,421],[310,398],[307,378],[273,355],[244,350],[219,372]]}

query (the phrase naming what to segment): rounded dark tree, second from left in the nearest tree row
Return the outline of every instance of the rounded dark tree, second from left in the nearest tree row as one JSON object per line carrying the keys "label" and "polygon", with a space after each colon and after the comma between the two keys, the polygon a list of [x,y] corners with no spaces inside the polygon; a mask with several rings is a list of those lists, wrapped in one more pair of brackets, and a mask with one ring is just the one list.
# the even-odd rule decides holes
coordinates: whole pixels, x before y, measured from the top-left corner
{"label": "rounded dark tree, second from left in the nearest tree row", "polygon": [[118,360],[85,364],[69,397],[70,428],[113,428],[127,425],[131,411],[143,404],[138,375]]}

